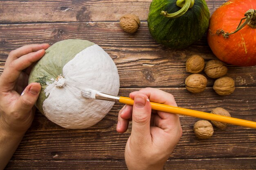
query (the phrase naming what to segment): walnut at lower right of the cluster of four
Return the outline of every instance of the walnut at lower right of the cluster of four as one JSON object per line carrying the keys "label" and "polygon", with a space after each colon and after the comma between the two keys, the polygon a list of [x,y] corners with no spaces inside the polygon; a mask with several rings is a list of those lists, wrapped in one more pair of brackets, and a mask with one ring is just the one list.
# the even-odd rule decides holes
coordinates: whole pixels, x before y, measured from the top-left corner
{"label": "walnut at lower right of the cluster of four", "polygon": [[214,82],[213,89],[220,96],[229,95],[235,90],[235,81],[227,76],[220,77]]}

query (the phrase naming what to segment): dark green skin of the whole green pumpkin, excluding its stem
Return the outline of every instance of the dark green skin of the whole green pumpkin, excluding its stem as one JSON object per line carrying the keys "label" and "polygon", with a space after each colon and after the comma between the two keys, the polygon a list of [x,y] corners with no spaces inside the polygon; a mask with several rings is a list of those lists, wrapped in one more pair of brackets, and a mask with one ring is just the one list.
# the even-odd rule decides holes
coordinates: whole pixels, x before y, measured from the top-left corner
{"label": "dark green skin of the whole green pumpkin, excluding its stem", "polygon": [[205,0],[195,0],[191,9],[177,18],[160,15],[162,11],[175,13],[181,8],[177,0],[153,0],[148,14],[151,36],[169,48],[186,48],[202,38],[209,26],[210,12]]}

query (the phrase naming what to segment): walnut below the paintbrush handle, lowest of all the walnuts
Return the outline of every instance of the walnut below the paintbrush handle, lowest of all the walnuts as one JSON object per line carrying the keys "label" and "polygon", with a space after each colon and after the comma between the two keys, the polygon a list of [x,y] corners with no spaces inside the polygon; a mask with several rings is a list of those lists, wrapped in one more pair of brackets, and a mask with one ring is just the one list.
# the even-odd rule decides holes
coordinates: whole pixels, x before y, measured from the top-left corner
{"label": "walnut below the paintbrush handle, lowest of all the walnuts", "polygon": [[213,126],[207,120],[199,120],[194,124],[194,133],[200,139],[207,139],[213,135]]}

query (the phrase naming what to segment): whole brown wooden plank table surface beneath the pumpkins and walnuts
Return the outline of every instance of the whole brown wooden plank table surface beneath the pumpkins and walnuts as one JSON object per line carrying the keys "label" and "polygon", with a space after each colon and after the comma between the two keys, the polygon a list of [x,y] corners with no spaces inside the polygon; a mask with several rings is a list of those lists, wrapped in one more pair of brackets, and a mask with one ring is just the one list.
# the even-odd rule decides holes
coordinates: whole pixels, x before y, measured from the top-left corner
{"label": "whole brown wooden plank table surface beneath the pumpkins and walnuts", "polygon": [[[211,14],[227,0],[206,0]],[[232,117],[256,121],[256,67],[228,65],[227,76],[236,90],[218,96],[208,78],[206,90],[191,94],[184,87],[190,74],[185,62],[193,54],[216,59],[206,36],[184,50],[170,50],[149,34],[147,15],[151,0],[4,0],[0,1],[0,72],[11,50],[27,44],[53,44],[63,39],[87,39],[101,46],[114,60],[120,76],[119,95],[155,87],[174,95],[177,105],[210,112],[222,107]],[[133,13],[141,26],[127,34],[119,18]],[[204,72],[202,72],[203,75]],[[206,75],[205,75],[206,76]],[[64,129],[36,112],[6,169],[126,169],[124,148],[131,127],[116,132],[116,103],[98,124],[84,130]],[[193,133],[197,118],[180,116],[183,135],[165,169],[256,169],[256,130],[230,125],[214,127],[210,139]]]}

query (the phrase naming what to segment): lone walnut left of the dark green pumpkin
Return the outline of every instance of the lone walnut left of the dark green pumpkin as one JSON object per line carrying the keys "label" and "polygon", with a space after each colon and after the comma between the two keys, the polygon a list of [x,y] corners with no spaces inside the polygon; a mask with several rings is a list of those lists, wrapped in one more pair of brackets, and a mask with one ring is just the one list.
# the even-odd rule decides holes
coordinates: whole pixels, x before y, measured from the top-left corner
{"label": "lone walnut left of the dark green pumpkin", "polygon": [[135,33],[140,26],[139,17],[126,14],[120,18],[120,26],[126,33]]}

